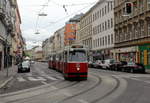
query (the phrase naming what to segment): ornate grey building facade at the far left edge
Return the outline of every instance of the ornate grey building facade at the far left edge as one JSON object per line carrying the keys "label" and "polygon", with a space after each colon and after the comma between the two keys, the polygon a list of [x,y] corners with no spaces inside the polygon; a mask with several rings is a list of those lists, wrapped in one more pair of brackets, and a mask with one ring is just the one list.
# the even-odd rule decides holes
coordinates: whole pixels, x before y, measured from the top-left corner
{"label": "ornate grey building facade at the far left edge", "polygon": [[16,9],[18,9],[16,0],[0,1],[0,69],[12,65]]}

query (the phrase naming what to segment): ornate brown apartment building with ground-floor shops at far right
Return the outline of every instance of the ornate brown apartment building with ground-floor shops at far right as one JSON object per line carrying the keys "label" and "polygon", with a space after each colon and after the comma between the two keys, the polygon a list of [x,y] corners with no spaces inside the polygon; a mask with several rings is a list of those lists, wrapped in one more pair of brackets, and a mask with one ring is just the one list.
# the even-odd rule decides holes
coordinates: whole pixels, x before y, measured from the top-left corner
{"label": "ornate brown apartment building with ground-floor shops at far right", "polygon": [[133,3],[125,15],[126,0],[115,0],[116,59],[143,63],[150,69],[150,1],[128,0]]}

